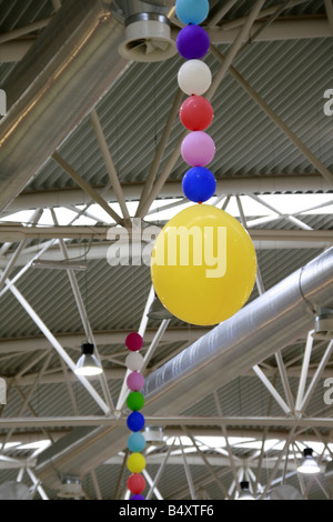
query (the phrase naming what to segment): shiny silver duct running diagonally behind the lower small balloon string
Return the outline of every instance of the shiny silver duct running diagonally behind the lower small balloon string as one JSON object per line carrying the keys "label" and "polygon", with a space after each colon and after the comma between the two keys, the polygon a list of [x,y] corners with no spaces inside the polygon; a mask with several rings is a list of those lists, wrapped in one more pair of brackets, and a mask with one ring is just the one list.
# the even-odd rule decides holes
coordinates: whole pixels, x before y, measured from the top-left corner
{"label": "shiny silver duct running diagonally behind the lower small balloon string", "polygon": [[[178,415],[313,329],[312,308],[333,304],[333,248],[250,302],[145,379],[145,416]],[[270,342],[268,342],[268,339]],[[122,451],[124,424],[74,429],[41,453],[40,480],[82,475]],[[57,472],[54,471],[57,470]]]}

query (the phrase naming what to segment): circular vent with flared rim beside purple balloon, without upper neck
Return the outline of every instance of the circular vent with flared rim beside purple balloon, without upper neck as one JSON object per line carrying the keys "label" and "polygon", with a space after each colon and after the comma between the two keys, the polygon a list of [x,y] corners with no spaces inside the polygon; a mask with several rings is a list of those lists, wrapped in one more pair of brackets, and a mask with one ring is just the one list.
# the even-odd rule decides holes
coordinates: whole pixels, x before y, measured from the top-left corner
{"label": "circular vent with flared rim beside purple balloon, without upper neck", "polygon": [[141,12],[125,20],[125,40],[119,53],[132,61],[154,62],[172,58],[175,42],[170,36],[169,20],[163,14]]}

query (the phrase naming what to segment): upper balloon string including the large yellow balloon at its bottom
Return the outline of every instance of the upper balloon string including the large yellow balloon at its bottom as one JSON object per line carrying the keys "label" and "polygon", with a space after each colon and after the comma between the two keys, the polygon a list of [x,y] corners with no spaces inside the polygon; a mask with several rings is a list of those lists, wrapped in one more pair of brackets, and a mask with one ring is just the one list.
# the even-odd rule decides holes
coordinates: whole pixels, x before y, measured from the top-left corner
{"label": "upper balloon string including the large yellow balloon at its bottom", "polygon": [[178,84],[188,96],[179,117],[190,132],[181,155],[190,169],[182,190],[195,203],[173,217],[159,234],[151,258],[157,295],[175,318],[196,325],[214,325],[238,312],[248,301],[256,275],[256,255],[246,230],[232,215],[204,204],[216,192],[208,165],[215,159],[215,143],[206,132],[214,120],[204,98],[212,72],[203,61],[210,48],[200,24],[210,11],[208,0],[176,0],[175,14],[184,24],[176,48],[185,60]]}

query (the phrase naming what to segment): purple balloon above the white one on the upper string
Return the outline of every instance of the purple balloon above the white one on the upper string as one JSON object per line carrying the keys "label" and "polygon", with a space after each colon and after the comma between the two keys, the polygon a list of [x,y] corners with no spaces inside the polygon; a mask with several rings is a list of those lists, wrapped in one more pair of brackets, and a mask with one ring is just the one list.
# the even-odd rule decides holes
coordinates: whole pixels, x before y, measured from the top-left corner
{"label": "purple balloon above the white one on the upper string", "polygon": [[210,48],[210,37],[201,26],[185,26],[178,33],[176,49],[185,60],[200,60]]}

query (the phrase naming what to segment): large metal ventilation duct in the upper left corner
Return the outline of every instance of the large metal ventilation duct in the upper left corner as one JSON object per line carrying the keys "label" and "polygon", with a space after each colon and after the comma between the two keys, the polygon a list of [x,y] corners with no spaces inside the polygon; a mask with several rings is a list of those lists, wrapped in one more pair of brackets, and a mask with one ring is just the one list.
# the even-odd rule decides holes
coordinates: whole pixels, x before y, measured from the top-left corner
{"label": "large metal ventilation duct in the upper left corner", "polygon": [[1,84],[0,211],[94,108],[128,67],[111,0],[67,0]]}

